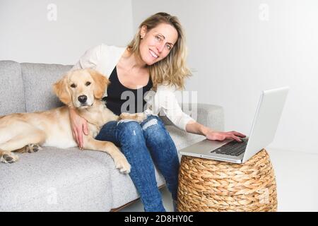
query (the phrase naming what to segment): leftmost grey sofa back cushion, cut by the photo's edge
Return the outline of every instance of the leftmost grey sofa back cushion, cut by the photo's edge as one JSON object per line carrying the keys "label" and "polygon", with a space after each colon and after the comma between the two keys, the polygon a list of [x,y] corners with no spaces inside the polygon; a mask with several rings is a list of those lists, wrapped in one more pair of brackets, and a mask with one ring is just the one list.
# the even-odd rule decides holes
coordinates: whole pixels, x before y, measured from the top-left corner
{"label": "leftmost grey sofa back cushion, cut by the photo's edge", "polygon": [[0,61],[0,115],[25,112],[20,64]]}

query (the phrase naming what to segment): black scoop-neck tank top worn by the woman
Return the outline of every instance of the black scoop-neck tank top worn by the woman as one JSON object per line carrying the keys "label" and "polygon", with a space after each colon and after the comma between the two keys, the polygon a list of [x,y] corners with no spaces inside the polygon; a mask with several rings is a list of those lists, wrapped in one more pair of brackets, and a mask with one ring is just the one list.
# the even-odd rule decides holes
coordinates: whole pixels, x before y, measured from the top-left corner
{"label": "black scoop-neck tank top worn by the woman", "polygon": [[110,85],[107,88],[107,97],[102,100],[106,102],[106,107],[114,114],[121,114],[122,112],[129,112],[131,114],[143,112],[146,101],[143,100],[143,95],[151,90],[153,82],[149,78],[148,84],[139,89],[126,88],[120,83],[117,75],[117,67],[110,74]]}

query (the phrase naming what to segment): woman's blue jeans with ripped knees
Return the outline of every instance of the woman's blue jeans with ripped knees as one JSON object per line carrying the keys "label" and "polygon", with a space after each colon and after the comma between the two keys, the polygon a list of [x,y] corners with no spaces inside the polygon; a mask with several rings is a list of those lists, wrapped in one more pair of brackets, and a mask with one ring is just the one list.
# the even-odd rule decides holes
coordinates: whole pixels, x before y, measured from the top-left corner
{"label": "woman's blue jeans with ripped knees", "polygon": [[158,167],[172,198],[177,200],[179,158],[177,148],[163,121],[150,115],[141,124],[136,121],[109,121],[96,136],[119,146],[131,165],[129,173],[141,196],[145,211],[165,211],[155,180]]}

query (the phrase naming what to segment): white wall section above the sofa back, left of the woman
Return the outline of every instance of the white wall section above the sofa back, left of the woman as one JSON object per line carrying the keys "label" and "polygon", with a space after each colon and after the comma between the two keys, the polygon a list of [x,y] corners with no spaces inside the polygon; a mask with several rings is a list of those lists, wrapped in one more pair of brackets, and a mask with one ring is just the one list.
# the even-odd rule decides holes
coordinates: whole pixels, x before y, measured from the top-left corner
{"label": "white wall section above the sofa back, left of the woman", "polygon": [[131,18],[130,0],[0,0],[0,59],[74,64],[97,44],[125,46]]}

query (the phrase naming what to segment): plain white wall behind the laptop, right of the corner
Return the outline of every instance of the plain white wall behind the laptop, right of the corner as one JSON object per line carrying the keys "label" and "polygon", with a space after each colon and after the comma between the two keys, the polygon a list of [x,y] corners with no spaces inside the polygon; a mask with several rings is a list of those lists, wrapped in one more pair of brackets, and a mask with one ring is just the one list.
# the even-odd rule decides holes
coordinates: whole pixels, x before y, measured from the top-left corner
{"label": "plain white wall behind the laptop, right of the corner", "polygon": [[[268,20],[261,4],[269,7]],[[225,129],[248,134],[261,90],[289,85],[271,147],[318,153],[318,1],[139,0],[132,6],[135,29],[158,11],[179,17],[196,71],[187,90],[225,108]]]}

